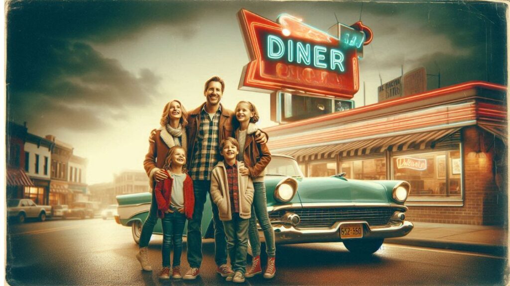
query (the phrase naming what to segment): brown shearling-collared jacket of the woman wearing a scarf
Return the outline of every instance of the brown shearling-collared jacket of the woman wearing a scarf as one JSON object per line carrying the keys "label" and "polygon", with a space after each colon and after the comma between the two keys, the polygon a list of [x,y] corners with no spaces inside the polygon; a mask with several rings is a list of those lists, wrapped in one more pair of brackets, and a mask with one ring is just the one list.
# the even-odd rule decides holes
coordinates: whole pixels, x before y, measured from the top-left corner
{"label": "brown shearling-collared jacket of the woman wearing a scarf", "polygon": [[[149,177],[149,185],[151,189],[154,188],[154,178],[152,176],[154,176],[154,173],[156,173],[157,170],[163,168],[168,150],[170,150],[173,146],[175,146],[173,136],[168,133],[165,127],[161,127],[160,130],[157,130],[156,136],[154,136],[154,142],[149,143],[149,151],[147,152],[147,155],[145,155],[143,167]],[[187,150],[187,136],[185,128],[183,128],[181,146],[185,151]]]}

